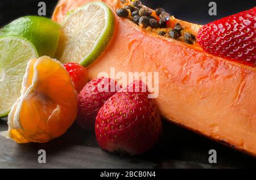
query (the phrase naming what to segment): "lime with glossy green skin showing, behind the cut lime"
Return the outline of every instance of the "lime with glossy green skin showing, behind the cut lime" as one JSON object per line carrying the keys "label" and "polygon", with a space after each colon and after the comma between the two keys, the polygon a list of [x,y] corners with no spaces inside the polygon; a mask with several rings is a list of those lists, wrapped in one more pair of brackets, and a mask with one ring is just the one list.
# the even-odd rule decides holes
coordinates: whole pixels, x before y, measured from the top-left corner
{"label": "lime with glossy green skin showing, behind the cut lime", "polygon": [[59,41],[60,25],[42,16],[24,16],[3,27],[0,36],[3,35],[25,37],[35,45],[39,56],[53,57]]}

